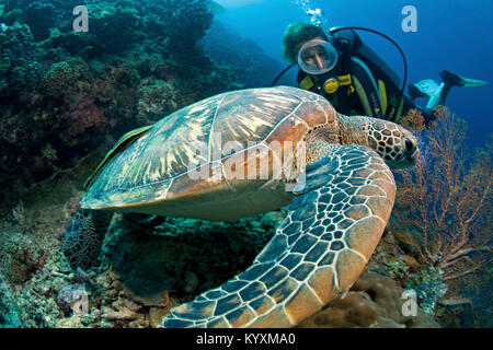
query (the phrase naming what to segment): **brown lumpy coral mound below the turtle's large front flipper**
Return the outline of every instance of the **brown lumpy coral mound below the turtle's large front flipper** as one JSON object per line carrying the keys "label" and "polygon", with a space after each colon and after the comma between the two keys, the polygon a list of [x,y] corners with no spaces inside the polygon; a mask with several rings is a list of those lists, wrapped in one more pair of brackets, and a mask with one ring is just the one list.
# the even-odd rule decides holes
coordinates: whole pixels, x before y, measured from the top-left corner
{"label": "brown lumpy coral mound below the turtle's large front flipper", "polygon": [[417,307],[416,316],[404,316],[404,290],[388,278],[366,272],[342,299],[334,300],[299,324],[301,328],[437,328],[433,317]]}

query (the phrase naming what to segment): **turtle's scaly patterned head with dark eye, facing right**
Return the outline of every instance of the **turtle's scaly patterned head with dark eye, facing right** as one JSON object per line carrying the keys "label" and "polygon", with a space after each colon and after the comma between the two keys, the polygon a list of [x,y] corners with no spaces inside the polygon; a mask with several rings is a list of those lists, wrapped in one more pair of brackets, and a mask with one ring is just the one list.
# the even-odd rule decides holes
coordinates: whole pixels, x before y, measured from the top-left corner
{"label": "turtle's scaly patterned head with dark eye, facing right", "polygon": [[342,143],[357,143],[374,149],[390,168],[412,166],[420,158],[419,143],[411,131],[382,119],[337,116]]}

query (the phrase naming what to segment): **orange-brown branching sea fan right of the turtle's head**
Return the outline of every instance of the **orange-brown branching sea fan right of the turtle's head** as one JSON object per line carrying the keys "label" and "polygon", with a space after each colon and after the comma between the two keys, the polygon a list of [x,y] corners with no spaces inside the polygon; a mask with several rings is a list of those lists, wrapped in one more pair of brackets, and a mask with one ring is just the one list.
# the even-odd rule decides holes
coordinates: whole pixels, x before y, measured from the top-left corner
{"label": "orange-brown branching sea fan right of the turtle's head", "polygon": [[[421,131],[420,162],[398,174],[394,217],[419,234],[406,244],[421,262],[443,270],[443,281],[470,275],[491,261],[492,142],[466,148],[467,122],[446,108],[436,126]],[[420,115],[404,122],[420,128]]]}

